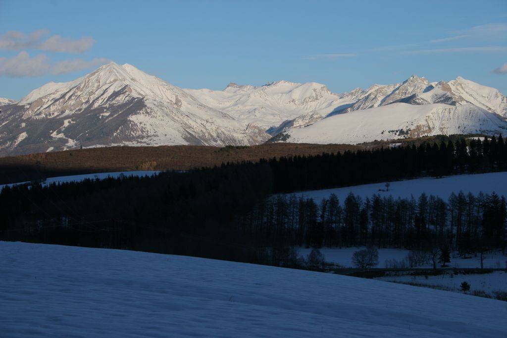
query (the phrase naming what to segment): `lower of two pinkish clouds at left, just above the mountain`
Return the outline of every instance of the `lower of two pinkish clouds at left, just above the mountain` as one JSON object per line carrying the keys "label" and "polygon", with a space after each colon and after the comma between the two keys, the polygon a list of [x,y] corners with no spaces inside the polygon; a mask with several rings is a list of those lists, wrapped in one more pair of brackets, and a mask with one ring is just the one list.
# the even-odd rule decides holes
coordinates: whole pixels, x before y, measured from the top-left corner
{"label": "lower of two pinkish clouds at left, just above the mountain", "polygon": [[39,54],[33,57],[22,51],[11,58],[0,57],[0,76],[11,78],[37,77],[47,74],[66,74],[78,72],[107,63],[105,58],[94,58],[92,60],[71,59],[51,63],[46,54]]}

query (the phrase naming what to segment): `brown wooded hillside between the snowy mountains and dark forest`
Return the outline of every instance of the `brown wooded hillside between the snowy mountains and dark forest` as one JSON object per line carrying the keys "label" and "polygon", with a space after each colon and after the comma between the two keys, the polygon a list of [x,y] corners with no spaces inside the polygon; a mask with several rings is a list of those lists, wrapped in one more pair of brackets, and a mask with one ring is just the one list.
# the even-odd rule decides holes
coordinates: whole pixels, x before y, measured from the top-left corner
{"label": "brown wooded hillside between the snowy mountains and dark forest", "polygon": [[354,145],[271,143],[251,147],[159,146],[66,150],[0,158],[0,183],[63,175],[136,170],[188,170],[226,162],[259,161],[364,149]]}

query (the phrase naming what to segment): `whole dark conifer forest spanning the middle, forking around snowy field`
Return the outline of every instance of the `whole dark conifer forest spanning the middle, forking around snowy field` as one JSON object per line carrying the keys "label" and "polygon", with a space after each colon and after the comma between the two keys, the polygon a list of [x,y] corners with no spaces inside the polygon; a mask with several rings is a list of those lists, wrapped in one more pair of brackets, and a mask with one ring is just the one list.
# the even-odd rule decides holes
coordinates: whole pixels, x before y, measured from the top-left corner
{"label": "whole dark conifer forest spanning the middle, forking around snowy field", "polygon": [[500,136],[227,163],[151,178],[32,183],[0,193],[0,240],[274,265],[290,265],[287,248],[294,246],[505,251],[506,202],[496,194],[350,194],[340,201],[290,193],[506,170],[507,143]]}

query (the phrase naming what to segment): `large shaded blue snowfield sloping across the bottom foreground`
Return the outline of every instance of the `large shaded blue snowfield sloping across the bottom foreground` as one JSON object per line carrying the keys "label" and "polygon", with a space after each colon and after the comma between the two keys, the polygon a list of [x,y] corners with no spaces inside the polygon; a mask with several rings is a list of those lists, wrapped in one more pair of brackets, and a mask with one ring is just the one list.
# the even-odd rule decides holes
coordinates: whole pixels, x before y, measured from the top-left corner
{"label": "large shaded blue snowfield sloping across the bottom foreground", "polygon": [[507,303],[332,274],[0,242],[2,336],[503,337]]}

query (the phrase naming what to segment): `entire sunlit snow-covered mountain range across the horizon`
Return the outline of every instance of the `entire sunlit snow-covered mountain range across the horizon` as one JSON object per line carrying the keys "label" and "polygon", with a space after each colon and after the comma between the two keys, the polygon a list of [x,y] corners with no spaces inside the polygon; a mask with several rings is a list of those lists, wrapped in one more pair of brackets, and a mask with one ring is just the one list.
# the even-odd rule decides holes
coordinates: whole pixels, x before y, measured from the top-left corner
{"label": "entire sunlit snow-covered mountain range across the horizon", "polygon": [[325,85],[230,83],[181,89],[114,62],[0,98],[0,147],[26,154],[111,145],[361,143],[433,134],[507,132],[507,97],[461,77],[333,93]]}

